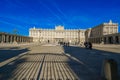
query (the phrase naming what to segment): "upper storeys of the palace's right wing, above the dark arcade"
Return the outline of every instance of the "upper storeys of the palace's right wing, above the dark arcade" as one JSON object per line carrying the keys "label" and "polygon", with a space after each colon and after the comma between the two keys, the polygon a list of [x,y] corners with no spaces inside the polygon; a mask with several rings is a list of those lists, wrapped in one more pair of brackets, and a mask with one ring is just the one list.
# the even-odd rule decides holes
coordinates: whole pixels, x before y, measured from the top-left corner
{"label": "upper storeys of the palace's right wing, above the dark arcade", "polygon": [[91,29],[90,37],[101,37],[103,35],[118,33],[118,23],[103,23]]}

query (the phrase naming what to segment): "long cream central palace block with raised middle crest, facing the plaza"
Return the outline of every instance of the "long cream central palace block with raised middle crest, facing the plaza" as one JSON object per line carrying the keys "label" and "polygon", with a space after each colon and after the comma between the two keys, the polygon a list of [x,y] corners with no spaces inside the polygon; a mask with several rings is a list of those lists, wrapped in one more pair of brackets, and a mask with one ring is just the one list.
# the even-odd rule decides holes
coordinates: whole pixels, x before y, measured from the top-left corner
{"label": "long cream central palace block with raised middle crest, facing the plaza", "polygon": [[85,30],[64,29],[64,26],[60,25],[55,26],[55,29],[38,29],[34,27],[29,29],[29,36],[33,37],[33,42],[80,44],[85,41]]}

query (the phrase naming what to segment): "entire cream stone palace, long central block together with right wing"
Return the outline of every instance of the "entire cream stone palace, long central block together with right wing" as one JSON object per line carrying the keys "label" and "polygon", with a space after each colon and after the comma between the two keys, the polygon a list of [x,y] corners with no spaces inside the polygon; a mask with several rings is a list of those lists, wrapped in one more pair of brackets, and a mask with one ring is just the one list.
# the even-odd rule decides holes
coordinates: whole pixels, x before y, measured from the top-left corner
{"label": "entire cream stone palace, long central block together with right wing", "polygon": [[70,42],[71,44],[81,44],[85,41],[99,44],[120,44],[120,33],[118,33],[118,23],[102,23],[87,30],[64,29],[64,26],[55,26],[55,29],[30,28],[29,36],[33,37],[33,42],[58,43]]}

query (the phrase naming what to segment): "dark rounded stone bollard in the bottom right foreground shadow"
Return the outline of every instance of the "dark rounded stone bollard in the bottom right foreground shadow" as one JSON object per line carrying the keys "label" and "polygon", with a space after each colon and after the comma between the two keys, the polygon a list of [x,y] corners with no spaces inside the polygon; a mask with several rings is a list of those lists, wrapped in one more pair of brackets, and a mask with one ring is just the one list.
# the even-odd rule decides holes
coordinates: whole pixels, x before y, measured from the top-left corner
{"label": "dark rounded stone bollard in the bottom right foreground shadow", "polygon": [[102,67],[102,80],[118,80],[118,66],[115,60],[104,60]]}

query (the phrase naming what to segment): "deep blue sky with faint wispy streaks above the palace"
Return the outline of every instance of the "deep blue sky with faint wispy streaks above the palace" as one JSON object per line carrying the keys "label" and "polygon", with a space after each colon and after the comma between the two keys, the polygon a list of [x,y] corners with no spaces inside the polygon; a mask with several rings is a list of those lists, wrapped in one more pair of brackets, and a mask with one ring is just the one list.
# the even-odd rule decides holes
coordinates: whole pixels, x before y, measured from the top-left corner
{"label": "deep blue sky with faint wispy streaks above the palace", "polygon": [[[29,28],[87,29],[120,23],[120,0],[0,0],[0,32],[27,36]],[[120,32],[120,30],[119,30]]]}

